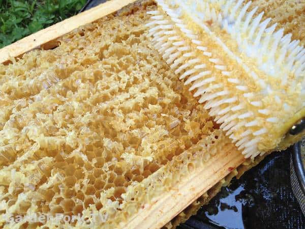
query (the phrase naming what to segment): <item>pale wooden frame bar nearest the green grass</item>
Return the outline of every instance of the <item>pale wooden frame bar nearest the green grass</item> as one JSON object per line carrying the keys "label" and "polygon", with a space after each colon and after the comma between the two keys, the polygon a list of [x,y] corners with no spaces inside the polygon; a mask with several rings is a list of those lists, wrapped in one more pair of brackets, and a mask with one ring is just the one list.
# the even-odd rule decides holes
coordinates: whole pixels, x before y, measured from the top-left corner
{"label": "pale wooden frame bar nearest the green grass", "polygon": [[0,49],[0,63],[5,63],[11,58],[16,58],[25,52],[39,48],[41,45],[55,40],[56,38],[73,31],[79,26],[96,21],[134,2],[136,2],[136,0],[110,0],[97,7],[44,28],[35,34],[22,38],[21,40]]}

